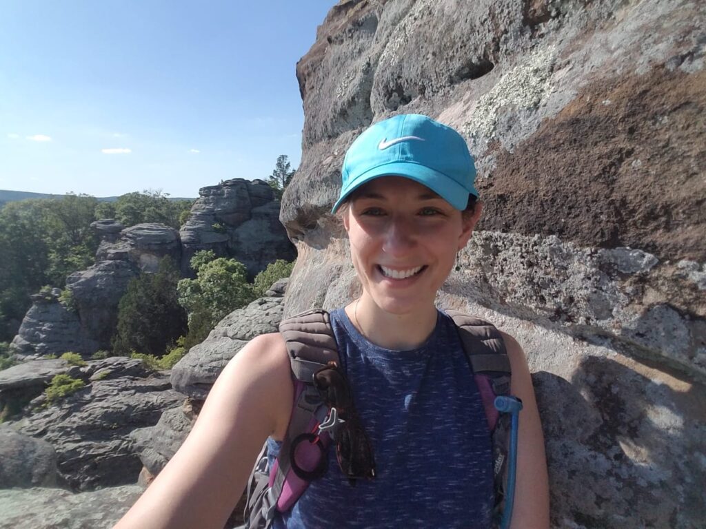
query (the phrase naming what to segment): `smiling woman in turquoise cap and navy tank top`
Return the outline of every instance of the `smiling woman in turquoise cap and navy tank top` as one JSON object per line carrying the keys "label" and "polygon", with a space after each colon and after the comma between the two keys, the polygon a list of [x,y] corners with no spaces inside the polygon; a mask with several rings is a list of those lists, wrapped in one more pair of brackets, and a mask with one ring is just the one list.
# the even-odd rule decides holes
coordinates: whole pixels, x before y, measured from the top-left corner
{"label": "smiling woman in turquoise cap and navy tank top", "polygon": [[[465,140],[419,115],[371,126],[349,148],[333,212],[362,295],[331,313],[369,434],[376,477],[352,487],[335,463],[275,527],[490,525],[489,432],[453,322],[434,304],[481,214]],[[512,528],[549,527],[542,429],[530,372],[503,335],[520,415]],[[184,445],[116,528],[218,528],[263,441],[292,411],[280,334],[258,336],[220,375]],[[272,443],[273,449],[277,446]]]}

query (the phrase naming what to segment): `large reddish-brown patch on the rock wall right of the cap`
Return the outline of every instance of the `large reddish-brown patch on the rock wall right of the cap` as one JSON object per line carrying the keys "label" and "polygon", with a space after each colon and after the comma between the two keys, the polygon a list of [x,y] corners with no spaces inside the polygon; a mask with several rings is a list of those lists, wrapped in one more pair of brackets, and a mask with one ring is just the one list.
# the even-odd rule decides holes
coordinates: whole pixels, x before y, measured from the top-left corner
{"label": "large reddish-brown patch on the rock wall right of the cap", "polygon": [[479,229],[706,260],[706,72],[598,80],[497,154]]}

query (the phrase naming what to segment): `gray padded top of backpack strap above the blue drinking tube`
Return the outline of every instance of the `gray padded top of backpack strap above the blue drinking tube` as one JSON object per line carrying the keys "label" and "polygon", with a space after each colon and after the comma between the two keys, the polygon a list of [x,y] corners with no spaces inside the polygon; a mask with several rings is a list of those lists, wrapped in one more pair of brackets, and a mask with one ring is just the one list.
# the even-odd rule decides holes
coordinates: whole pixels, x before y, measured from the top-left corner
{"label": "gray padded top of backpack strap above the blue drinking tube", "polygon": [[510,359],[497,327],[457,310],[447,310],[446,313],[459,329],[464,351],[474,373],[510,375]]}

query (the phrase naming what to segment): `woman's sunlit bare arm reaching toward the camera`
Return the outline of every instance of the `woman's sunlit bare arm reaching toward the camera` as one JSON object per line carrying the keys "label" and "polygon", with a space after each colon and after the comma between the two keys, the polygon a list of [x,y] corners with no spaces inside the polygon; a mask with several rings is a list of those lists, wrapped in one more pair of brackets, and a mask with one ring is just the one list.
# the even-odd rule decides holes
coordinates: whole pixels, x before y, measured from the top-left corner
{"label": "woman's sunlit bare arm reaching toward the camera", "polygon": [[286,432],[293,391],[280,334],[251,340],[218,377],[177,454],[114,529],[222,529],[265,439]]}

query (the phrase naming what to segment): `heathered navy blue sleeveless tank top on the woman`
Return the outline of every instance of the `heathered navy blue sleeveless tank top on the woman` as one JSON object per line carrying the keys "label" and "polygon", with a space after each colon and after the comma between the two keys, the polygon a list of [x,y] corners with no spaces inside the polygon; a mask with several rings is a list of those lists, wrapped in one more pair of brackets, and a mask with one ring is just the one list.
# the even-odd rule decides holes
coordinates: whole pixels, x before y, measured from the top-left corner
{"label": "heathered navy blue sleeveless tank top on the woman", "polygon": [[[376,478],[350,485],[332,446],[328,473],[274,527],[488,529],[490,434],[453,320],[438,312],[429,339],[410,351],[373,345],[343,309],[331,312],[331,323],[373,444]],[[271,466],[280,443],[268,443]]]}

